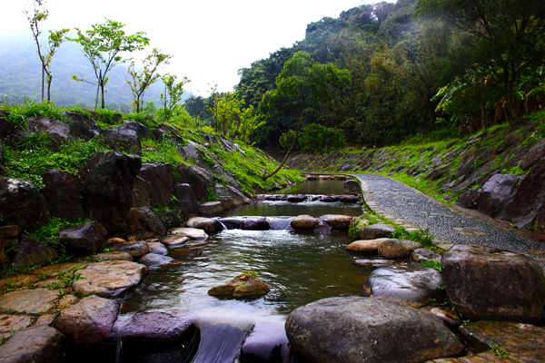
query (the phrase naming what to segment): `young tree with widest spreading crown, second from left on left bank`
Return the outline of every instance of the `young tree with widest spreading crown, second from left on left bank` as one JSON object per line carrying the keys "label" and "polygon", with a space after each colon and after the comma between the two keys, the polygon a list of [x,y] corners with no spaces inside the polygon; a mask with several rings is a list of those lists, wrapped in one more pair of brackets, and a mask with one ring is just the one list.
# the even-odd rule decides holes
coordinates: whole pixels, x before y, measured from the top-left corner
{"label": "young tree with widest spreading crown, second from left on left bank", "polygon": [[[104,24],[92,25],[93,29],[86,30],[85,32],[75,28],[78,37],[71,39],[82,45],[85,58],[93,66],[96,85],[101,91],[102,108],[105,108],[104,87],[108,82],[108,72],[115,65],[123,64],[130,60],[123,58],[120,54],[140,51],[150,42],[144,36],[145,33],[137,32],[133,35],[126,35],[123,30],[123,23],[108,18],[105,19],[106,22]],[[75,81],[91,83],[75,75],[72,78]]]}

